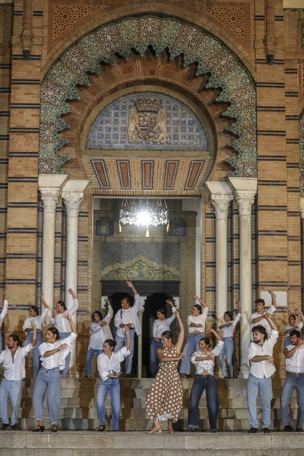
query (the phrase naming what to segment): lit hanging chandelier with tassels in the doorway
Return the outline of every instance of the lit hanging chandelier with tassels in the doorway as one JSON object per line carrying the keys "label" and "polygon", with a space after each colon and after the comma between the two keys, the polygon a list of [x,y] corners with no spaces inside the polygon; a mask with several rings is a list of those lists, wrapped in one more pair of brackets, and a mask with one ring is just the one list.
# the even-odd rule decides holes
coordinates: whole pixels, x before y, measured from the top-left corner
{"label": "lit hanging chandelier with tassels in the doorway", "polygon": [[167,224],[169,230],[169,209],[166,200],[124,199],[119,213],[119,231],[123,225],[146,226],[146,237],[149,237],[149,225],[158,226]]}

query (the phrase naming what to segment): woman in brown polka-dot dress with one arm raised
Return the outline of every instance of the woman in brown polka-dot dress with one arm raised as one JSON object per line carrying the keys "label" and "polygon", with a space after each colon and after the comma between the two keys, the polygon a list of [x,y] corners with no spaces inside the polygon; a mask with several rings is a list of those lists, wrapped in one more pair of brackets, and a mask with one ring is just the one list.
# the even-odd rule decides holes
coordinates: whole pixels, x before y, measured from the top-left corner
{"label": "woman in brown polka-dot dress with one arm raised", "polygon": [[178,361],[183,357],[181,347],[184,340],[184,326],[179,313],[174,313],[179,324],[179,335],[173,345],[173,334],[165,331],[161,335],[163,348],[157,350],[160,360],[159,370],[147,395],[145,405],[147,414],[154,422],[149,434],[161,433],[160,421],[168,420],[169,434],[173,434],[173,423],[178,420],[182,407],[182,386],[177,371]]}

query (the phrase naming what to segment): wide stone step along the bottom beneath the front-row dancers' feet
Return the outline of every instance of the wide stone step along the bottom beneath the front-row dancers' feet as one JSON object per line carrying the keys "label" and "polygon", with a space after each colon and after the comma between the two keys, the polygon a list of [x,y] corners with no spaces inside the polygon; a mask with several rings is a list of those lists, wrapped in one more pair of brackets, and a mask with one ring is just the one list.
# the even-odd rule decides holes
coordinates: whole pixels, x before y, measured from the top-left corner
{"label": "wide stone step along the bottom beneath the front-row dancers' feet", "polygon": [[3,431],[0,433],[1,456],[249,456],[252,454],[299,456],[304,435],[274,432],[49,432]]}

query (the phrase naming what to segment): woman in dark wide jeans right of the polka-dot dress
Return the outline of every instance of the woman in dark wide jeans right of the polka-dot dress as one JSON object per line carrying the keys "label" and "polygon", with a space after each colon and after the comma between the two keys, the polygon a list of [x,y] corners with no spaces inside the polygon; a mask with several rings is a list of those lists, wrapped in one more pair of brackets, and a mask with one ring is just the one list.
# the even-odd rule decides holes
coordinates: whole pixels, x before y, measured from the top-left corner
{"label": "woman in dark wide jeans right of the polka-dot dress", "polygon": [[201,338],[200,351],[195,352],[191,357],[191,362],[195,365],[196,375],[189,398],[188,429],[190,431],[199,429],[199,402],[204,390],[206,390],[210,431],[217,432],[216,421],[219,403],[214,376],[214,357],[219,355],[224,343],[215,329],[207,329],[207,331],[215,335],[218,343],[213,350],[208,351],[210,340],[206,337]]}

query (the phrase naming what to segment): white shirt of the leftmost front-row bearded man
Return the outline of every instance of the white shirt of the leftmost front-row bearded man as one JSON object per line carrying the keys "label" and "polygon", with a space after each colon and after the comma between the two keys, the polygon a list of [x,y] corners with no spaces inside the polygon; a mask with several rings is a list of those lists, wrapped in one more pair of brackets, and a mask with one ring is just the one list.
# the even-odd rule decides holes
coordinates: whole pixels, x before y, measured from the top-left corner
{"label": "white shirt of the leftmost front-row bearded man", "polygon": [[22,380],[25,377],[25,356],[32,350],[33,346],[28,344],[25,347],[18,347],[14,361],[12,352],[8,348],[0,353],[0,364],[4,368],[4,377],[7,380]]}

